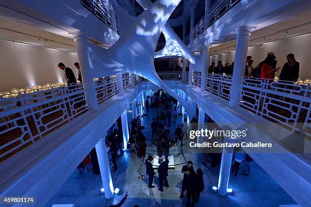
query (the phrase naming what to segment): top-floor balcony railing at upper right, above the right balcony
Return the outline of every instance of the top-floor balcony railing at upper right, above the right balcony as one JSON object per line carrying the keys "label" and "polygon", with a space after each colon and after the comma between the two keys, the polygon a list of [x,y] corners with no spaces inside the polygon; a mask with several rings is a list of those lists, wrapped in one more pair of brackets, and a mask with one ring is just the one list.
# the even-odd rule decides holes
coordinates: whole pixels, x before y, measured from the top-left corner
{"label": "top-floor balcony railing at upper right, above the right balcony", "polygon": [[[217,0],[210,8],[208,26],[219,20],[224,14],[236,6],[241,0]],[[205,31],[205,16],[194,26],[193,39],[199,37]],[[185,44],[190,43],[190,34],[186,37]]]}

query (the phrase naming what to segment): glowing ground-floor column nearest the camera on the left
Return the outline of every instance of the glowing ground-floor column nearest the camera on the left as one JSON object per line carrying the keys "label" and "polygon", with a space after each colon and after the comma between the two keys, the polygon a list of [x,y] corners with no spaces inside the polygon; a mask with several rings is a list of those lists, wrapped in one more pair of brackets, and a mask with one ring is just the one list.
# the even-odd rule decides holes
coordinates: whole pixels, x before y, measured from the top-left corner
{"label": "glowing ground-floor column nearest the camera on the left", "polygon": [[108,155],[106,151],[106,145],[104,139],[100,139],[99,142],[95,145],[97,159],[101,170],[103,187],[105,190],[105,197],[112,198],[113,197],[113,184],[110,174],[110,166]]}

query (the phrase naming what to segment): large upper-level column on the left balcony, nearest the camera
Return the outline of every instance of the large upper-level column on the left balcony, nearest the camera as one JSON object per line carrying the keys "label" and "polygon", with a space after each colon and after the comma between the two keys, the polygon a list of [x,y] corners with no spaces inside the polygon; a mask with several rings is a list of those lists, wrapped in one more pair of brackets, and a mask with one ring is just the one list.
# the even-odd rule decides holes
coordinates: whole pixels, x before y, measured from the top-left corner
{"label": "large upper-level column on the left balcony, nearest the camera", "polygon": [[73,36],[77,48],[87,104],[92,111],[98,111],[99,108],[97,104],[97,95],[94,83],[95,75],[94,69],[90,65],[87,36],[83,33],[70,34]]}

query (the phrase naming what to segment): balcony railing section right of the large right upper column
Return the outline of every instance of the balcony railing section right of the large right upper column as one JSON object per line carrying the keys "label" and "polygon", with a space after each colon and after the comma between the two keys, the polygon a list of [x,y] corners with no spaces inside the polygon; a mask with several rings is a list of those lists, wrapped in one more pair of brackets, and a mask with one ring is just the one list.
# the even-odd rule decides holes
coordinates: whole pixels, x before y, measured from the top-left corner
{"label": "balcony railing section right of the large right upper column", "polygon": [[[293,132],[311,136],[311,84],[245,77],[239,105]],[[303,135],[303,134],[301,134]]]}

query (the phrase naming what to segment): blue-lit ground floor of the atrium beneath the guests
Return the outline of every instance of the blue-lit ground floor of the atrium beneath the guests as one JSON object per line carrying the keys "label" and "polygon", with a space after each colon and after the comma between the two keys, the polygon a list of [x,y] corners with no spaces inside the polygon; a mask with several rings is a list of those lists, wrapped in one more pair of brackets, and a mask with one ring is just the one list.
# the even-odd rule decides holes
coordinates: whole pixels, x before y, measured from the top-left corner
{"label": "blue-lit ground floor of the atrium beneath the guests", "polygon": [[[151,108],[147,116],[142,119],[146,129],[143,133],[147,137],[147,142],[150,142],[151,130],[150,123],[152,117],[157,115],[157,110]],[[129,114],[129,123],[132,117]],[[177,123],[172,119],[173,135],[176,124],[182,120],[179,117]],[[155,154],[156,149],[147,147],[147,152]],[[175,164],[184,162],[184,159],[178,155],[179,148],[171,150],[171,155],[174,156]],[[205,189],[201,194],[200,201],[196,206],[278,206],[279,204],[296,204],[296,202],[274,182],[274,180],[255,162],[251,163],[251,173],[245,177],[239,174],[231,175],[228,188],[232,188],[234,195],[220,196],[211,192],[212,186],[217,186],[219,168],[210,169],[203,166],[202,155],[200,154],[185,154],[187,160],[194,161],[195,169],[200,167],[204,170]],[[110,156],[109,156],[110,157]],[[129,153],[120,156],[117,159],[119,169],[116,172],[111,171],[113,186],[119,188],[121,194],[115,195],[112,199],[105,199],[104,195],[100,194],[102,188],[101,176],[88,173],[86,170],[79,174],[75,171],[66,183],[56,192],[46,206],[52,204],[69,204],[74,203],[75,206],[109,206],[110,204],[118,203],[126,192],[129,192],[128,199],[122,206],[133,206],[138,204],[141,206],[185,206],[186,198],[179,199],[180,185],[182,174],[180,173],[182,165],[178,165],[175,169],[169,170],[169,188],[164,188],[164,192],[158,191],[158,188],[149,189],[147,187],[147,176],[144,180],[139,180],[139,158],[130,158]],[[142,171],[145,171],[144,166]],[[143,174],[145,174],[143,172]],[[155,185],[158,185],[157,174],[154,178]]]}

